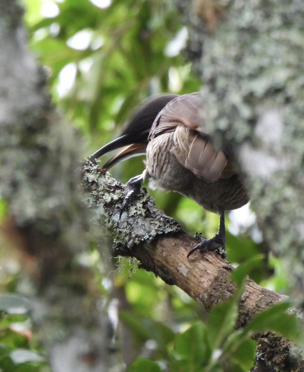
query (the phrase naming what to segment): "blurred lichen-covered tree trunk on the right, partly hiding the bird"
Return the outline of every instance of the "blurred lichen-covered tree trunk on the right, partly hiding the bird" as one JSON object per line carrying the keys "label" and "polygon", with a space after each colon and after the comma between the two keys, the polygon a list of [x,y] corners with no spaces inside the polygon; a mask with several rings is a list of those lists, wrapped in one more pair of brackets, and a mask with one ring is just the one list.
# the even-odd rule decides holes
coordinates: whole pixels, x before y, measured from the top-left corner
{"label": "blurred lichen-covered tree trunk on the right, partly hiding the bird", "polygon": [[[263,237],[304,304],[304,3],[175,0],[218,146],[247,176]],[[212,26],[212,27],[211,27]]]}

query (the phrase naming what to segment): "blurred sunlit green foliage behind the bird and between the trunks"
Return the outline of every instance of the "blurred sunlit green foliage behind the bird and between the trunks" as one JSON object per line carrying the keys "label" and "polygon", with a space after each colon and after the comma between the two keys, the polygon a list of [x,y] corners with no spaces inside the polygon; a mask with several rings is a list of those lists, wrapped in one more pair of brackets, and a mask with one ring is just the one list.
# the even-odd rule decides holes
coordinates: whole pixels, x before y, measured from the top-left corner
{"label": "blurred sunlit green foliage behind the bird and between the trunks", "polygon": [[[47,71],[52,102],[78,128],[84,158],[119,135],[132,110],[150,94],[200,89],[183,52],[187,29],[171,1],[23,0],[23,6],[29,48]],[[143,167],[143,158],[133,158],[111,173],[126,182]],[[217,231],[217,215],[189,199],[159,191],[151,195],[191,234],[211,237]],[[4,202],[0,212],[5,214]],[[250,206],[227,216],[229,260],[235,267],[245,265],[240,267],[261,285],[287,293],[280,262],[268,253]],[[26,298],[19,295],[30,294],[30,284],[1,240],[0,371],[48,371]],[[113,343],[122,350],[129,372],[249,371],[256,347],[250,339],[253,330],[296,334],[285,305],[235,331],[239,294],[207,315],[179,288],[137,269],[136,262],[117,260],[105,276],[94,247],[88,259],[101,293],[109,301],[119,298],[120,325]],[[245,278],[241,272],[236,275],[239,288]],[[117,344],[122,335],[127,343]]]}

